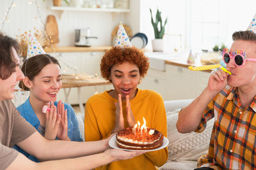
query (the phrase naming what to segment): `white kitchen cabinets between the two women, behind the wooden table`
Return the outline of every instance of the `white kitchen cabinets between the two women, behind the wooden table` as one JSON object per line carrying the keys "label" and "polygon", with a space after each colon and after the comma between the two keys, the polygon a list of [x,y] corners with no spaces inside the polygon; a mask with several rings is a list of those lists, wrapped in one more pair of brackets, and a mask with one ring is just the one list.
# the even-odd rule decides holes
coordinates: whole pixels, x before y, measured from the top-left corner
{"label": "white kitchen cabinets between the two women, behind the wooden table", "polygon": [[[49,53],[52,56],[59,55],[57,59],[60,61],[61,73],[62,74],[74,74],[76,73],[72,69],[64,64],[68,64],[69,67],[77,67],[77,73],[86,73],[89,75],[100,76],[100,60],[104,55],[104,52],[58,52],[58,53]],[[104,92],[106,89],[111,89],[111,85],[97,85],[90,87],[81,87],[81,96],[83,103],[86,103],[89,97],[93,96],[95,92]],[[68,91],[68,89],[66,89]],[[64,89],[60,89],[58,93],[58,100],[65,101],[65,92]],[[70,94],[68,96],[68,103],[78,104],[77,99],[77,88],[70,89]]]}

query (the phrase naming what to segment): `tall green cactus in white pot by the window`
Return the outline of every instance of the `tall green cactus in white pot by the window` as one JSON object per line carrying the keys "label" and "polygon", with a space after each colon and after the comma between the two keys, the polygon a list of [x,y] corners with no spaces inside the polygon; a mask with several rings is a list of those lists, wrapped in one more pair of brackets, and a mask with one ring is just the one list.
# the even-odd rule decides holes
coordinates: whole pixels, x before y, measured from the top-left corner
{"label": "tall green cactus in white pot by the window", "polygon": [[161,11],[158,10],[156,12],[156,19],[154,21],[152,17],[152,10],[150,8],[150,15],[151,15],[151,23],[154,28],[155,33],[155,39],[152,39],[152,47],[154,52],[163,52],[164,50],[164,31],[165,31],[165,25],[167,23],[167,18],[164,21],[164,24],[162,23],[162,17],[161,17]]}

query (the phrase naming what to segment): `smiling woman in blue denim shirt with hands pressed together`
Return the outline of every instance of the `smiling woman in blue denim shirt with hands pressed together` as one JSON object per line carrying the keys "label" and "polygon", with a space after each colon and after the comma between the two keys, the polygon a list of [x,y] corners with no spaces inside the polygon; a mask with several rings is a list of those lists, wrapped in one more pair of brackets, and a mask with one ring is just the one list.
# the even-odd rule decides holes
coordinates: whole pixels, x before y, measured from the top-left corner
{"label": "smiling woman in blue denim shirt with hands pressed together", "polygon": [[[76,113],[68,103],[56,101],[61,89],[61,70],[57,59],[48,54],[29,57],[22,65],[24,80],[19,87],[29,91],[25,103],[17,107],[20,115],[49,140],[83,141]],[[50,108],[50,106],[52,106]],[[17,145],[16,150],[39,162]]]}

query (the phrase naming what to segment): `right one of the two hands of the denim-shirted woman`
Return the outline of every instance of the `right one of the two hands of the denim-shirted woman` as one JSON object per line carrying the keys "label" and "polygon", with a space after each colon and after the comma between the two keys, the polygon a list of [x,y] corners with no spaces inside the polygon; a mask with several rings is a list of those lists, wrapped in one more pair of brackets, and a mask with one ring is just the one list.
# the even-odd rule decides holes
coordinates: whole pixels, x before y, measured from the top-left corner
{"label": "right one of the two hands of the denim-shirted woman", "polygon": [[57,137],[61,140],[70,141],[68,138],[68,118],[67,118],[67,110],[64,108],[64,103],[61,101],[58,102],[57,113],[60,115],[60,125],[57,133]]}

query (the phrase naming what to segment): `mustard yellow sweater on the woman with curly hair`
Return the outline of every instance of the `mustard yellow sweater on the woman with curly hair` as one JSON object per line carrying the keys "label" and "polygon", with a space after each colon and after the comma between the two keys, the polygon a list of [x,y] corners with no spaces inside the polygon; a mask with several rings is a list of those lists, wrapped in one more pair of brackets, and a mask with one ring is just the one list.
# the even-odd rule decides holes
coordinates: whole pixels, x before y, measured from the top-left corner
{"label": "mustard yellow sweater on the woman with curly hair", "polygon": [[[88,99],[84,115],[84,134],[86,141],[97,141],[108,138],[115,126],[115,102],[116,99],[109,96],[109,91],[96,94]],[[166,112],[163,98],[152,90],[138,89],[136,97],[131,101],[131,110],[136,121],[143,124],[143,117],[147,121],[147,127],[157,129],[167,134]],[[126,106],[123,103],[125,127],[127,126]],[[112,162],[99,169],[156,169],[155,166],[163,166],[168,159],[168,149],[147,152],[129,160]],[[100,160],[99,160],[100,161]]]}

